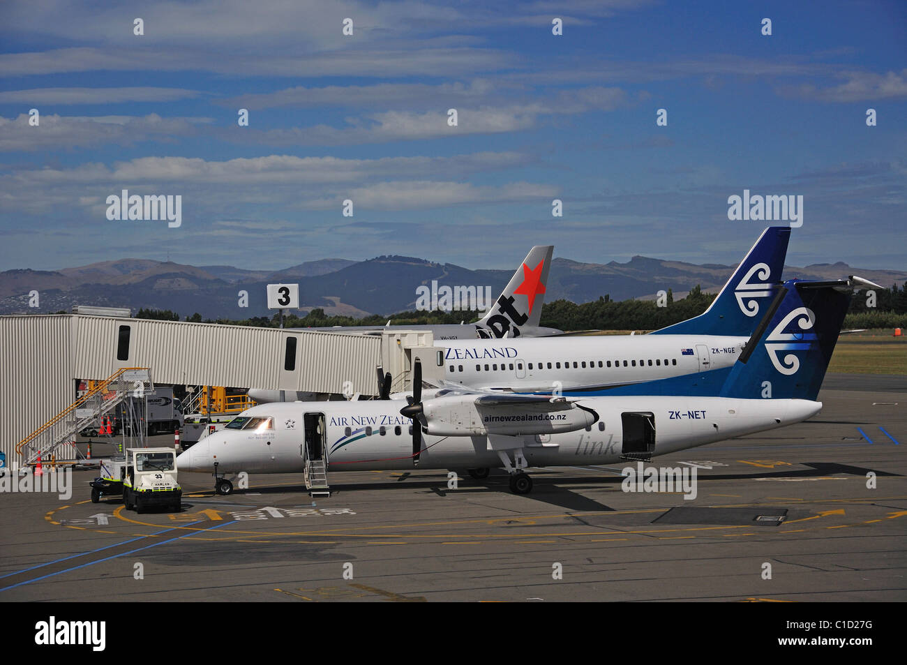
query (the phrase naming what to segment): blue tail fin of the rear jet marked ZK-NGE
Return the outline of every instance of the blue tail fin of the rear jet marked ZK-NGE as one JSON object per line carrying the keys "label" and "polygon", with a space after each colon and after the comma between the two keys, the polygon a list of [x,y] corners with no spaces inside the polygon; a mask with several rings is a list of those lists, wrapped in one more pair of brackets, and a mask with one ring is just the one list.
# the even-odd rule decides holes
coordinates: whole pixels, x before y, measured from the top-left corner
{"label": "blue tail fin of the rear jet marked ZK-NGE", "polygon": [[764,230],[705,312],[651,334],[752,335],[774,295],[771,287],[781,282],[790,237],[788,227]]}

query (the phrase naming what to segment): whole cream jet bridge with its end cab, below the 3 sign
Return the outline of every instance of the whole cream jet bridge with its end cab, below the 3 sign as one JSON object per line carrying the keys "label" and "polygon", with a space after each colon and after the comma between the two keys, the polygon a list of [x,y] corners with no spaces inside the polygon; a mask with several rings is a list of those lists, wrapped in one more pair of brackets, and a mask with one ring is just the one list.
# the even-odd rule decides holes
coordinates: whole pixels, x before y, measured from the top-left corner
{"label": "whole cream jet bridge with its end cab, below the 3 sign", "polygon": [[[72,459],[76,433],[130,392],[237,386],[376,396],[376,367],[411,389],[416,357],[443,371],[430,332],[378,336],[91,314],[0,317],[0,452],[7,466]],[[430,376],[430,374],[429,374]],[[77,398],[83,381],[94,389]]]}

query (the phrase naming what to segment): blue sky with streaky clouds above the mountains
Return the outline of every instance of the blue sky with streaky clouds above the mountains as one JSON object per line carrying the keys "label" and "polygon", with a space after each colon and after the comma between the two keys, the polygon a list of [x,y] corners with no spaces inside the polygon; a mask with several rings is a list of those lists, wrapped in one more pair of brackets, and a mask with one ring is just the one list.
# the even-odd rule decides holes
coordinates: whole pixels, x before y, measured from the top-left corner
{"label": "blue sky with streaky clouds above the mountains", "polygon": [[745,190],[789,265],[907,269],[905,122],[902,0],[4,2],[0,270],[731,264]]}

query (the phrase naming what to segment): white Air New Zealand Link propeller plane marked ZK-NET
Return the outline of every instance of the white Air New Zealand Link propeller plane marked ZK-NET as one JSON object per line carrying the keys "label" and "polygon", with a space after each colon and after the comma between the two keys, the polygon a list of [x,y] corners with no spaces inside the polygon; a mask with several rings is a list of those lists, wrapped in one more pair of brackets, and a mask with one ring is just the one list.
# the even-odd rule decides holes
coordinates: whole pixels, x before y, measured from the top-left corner
{"label": "white Air New Zealand Link propeller plane marked ZK-NET", "polygon": [[[305,473],[312,491],[331,471],[503,467],[515,494],[532,491],[532,466],[649,461],[697,445],[801,422],[815,401],[850,303],[851,281],[788,281],[734,366],[633,386],[639,395],[538,396],[442,389],[422,398],[414,365],[407,400],[254,406],[178,458],[180,472]],[[841,289],[844,289],[842,291]],[[668,384],[668,388],[660,384]],[[315,479],[315,480],[313,480]]]}

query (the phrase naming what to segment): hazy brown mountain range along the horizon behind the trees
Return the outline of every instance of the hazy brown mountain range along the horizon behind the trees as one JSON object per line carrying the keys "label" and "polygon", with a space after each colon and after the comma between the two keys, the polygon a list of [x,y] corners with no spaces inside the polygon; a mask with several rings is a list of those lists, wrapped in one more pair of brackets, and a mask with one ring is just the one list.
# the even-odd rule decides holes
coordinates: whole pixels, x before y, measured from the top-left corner
{"label": "hazy brown mountain range along the horizon behind the trees", "polygon": [[[610,295],[612,300],[654,298],[659,289],[672,289],[683,298],[697,284],[717,292],[734,266],[696,265],[635,256],[626,263],[580,263],[553,259],[546,302],[565,298],[588,302]],[[852,268],[845,263],[785,267],[785,279],[841,279],[859,275],[885,288],[907,280],[907,270]],[[15,269],[0,272],[0,314],[70,311],[74,305],[170,309],[181,316],[198,312],[202,318],[243,319],[268,316],[265,287],[269,283],[298,283],[302,311],[324,308],[327,314],[364,317],[414,309],[416,288],[439,286],[491,287],[501,293],[512,269],[471,270],[452,263],[435,263],[404,256],[380,256],[365,261],[320,259],[277,271],[232,266],[190,266],[171,261],[118,259],[60,270]],[[249,293],[248,307],[239,307],[240,291]],[[37,291],[38,308],[30,308]]]}

